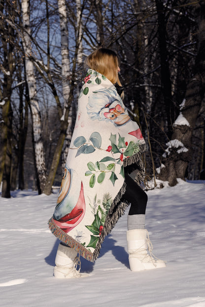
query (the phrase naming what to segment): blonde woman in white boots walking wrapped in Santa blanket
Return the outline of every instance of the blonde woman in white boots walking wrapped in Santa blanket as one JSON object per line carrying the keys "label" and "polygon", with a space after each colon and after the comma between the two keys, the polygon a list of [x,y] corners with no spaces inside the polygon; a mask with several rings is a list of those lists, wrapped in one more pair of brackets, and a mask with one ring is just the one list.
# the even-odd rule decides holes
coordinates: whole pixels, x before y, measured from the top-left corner
{"label": "blonde woman in white boots walking wrapped in Santa blanket", "polygon": [[[94,261],[104,237],[129,204],[127,244],[131,270],[164,267],[162,260],[155,260],[147,252],[147,195],[138,185],[145,174],[141,153],[146,145],[122,102],[123,93],[120,97],[117,55],[101,48],[86,59],[86,64],[89,69],[79,94],[57,206],[49,220],[51,232],[62,241],[54,276],[80,276],[75,270],[77,253]],[[135,169],[136,182],[128,175]]]}

